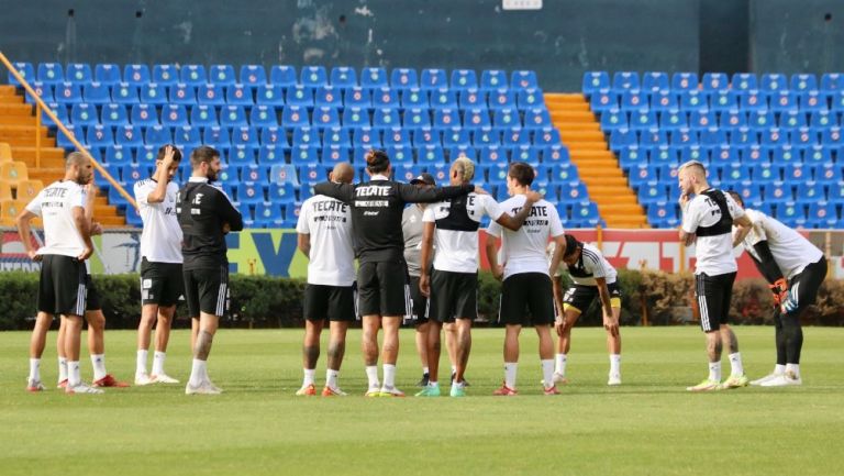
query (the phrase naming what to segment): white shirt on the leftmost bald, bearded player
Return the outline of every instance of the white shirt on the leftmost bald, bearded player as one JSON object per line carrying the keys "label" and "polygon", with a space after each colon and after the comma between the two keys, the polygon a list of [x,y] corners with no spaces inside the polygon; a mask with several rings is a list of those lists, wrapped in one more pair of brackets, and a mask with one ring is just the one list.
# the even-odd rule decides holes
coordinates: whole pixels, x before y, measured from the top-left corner
{"label": "white shirt on the leftmost bald, bearded player", "polygon": [[85,242],[74,221],[74,208],[85,210],[85,187],[73,180],[54,181],[41,190],[26,210],[44,222],[44,246],[40,255],[79,256]]}

